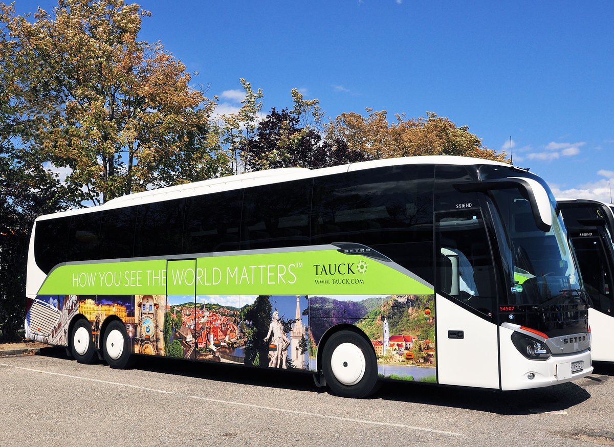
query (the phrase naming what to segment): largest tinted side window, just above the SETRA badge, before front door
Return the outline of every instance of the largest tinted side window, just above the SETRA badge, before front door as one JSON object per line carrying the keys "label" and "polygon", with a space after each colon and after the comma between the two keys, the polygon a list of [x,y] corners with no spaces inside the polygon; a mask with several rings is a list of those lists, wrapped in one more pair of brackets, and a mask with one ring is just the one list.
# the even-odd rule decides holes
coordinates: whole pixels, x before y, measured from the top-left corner
{"label": "largest tinted side window, just above the SETRA badge, before front door", "polygon": [[433,282],[433,166],[318,177],[311,244],[370,246]]}

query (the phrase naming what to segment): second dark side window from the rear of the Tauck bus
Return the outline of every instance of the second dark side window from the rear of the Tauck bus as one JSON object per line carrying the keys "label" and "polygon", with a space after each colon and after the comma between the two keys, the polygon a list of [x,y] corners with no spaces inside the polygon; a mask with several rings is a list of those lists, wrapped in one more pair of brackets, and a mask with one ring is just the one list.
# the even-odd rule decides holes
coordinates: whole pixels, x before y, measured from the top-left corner
{"label": "second dark side window from the rear of the Tauck bus", "polygon": [[100,213],[72,216],[68,236],[68,260],[87,261],[98,258]]}

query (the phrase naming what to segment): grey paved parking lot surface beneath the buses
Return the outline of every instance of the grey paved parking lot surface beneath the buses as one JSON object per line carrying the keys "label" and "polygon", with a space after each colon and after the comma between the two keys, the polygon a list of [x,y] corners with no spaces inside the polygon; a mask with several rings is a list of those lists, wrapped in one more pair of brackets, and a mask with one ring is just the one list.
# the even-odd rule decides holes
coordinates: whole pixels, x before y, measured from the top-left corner
{"label": "grey paved parking lot surface beneath the buses", "polygon": [[309,375],[171,359],[111,370],[44,348],[0,359],[0,445],[614,446],[613,376],[506,393],[386,383],[353,400]]}

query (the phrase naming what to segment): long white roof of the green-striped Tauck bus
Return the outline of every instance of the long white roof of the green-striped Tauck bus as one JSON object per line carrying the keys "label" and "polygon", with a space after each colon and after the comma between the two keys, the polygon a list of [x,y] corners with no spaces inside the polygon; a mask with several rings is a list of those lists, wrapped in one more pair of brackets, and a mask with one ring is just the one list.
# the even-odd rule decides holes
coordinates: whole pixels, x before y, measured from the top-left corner
{"label": "long white roof of the green-striped Tauck bus", "polygon": [[36,220],[54,219],[60,216],[72,216],[88,212],[103,211],[104,209],[123,208],[140,203],[152,203],[155,201],[172,200],[206,193],[214,193],[225,190],[239,189],[282,181],[320,177],[343,172],[360,171],[362,169],[380,168],[395,165],[499,165],[510,167],[500,161],[485,160],[483,158],[457,157],[456,155],[424,155],[419,157],[384,158],[383,160],[361,161],[348,165],[331,166],[328,168],[279,168],[238,174],[234,176],[219,177],[200,182],[192,182],[183,185],[174,185],[153,189],[143,192],[132,193],[107,201],[99,206],[89,208],[77,208],[68,211],[60,211],[54,214],[46,214],[37,217]]}

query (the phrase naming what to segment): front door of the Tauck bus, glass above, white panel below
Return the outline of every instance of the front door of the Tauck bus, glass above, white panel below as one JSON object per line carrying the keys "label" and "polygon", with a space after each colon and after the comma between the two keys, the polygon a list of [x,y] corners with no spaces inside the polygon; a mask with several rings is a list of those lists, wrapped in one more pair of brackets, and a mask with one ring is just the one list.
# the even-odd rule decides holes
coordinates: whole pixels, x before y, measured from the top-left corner
{"label": "front door of the Tauck bus, glass above, white panel below", "polygon": [[435,217],[438,382],[498,389],[494,266],[481,210]]}

